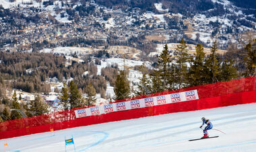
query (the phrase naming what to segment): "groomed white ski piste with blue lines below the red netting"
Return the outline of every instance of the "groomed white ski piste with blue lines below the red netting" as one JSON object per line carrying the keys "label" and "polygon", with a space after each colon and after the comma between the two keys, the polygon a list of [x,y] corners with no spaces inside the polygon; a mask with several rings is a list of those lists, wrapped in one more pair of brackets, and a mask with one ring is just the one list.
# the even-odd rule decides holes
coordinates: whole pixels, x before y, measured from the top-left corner
{"label": "groomed white ski piste with blue lines below the red netting", "polygon": [[[210,118],[215,139],[188,141],[203,135],[201,117]],[[73,135],[76,151],[255,151],[256,104],[179,112],[108,122],[0,140],[0,151],[65,151],[64,139]],[[73,148],[67,146],[68,151]]]}

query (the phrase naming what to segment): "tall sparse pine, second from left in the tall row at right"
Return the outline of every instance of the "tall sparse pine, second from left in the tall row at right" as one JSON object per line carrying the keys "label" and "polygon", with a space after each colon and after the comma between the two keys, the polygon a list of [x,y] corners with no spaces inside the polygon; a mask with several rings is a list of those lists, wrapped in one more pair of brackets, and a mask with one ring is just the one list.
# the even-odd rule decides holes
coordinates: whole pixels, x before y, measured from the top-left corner
{"label": "tall sparse pine, second from left in the tall row at right", "polygon": [[187,44],[185,43],[184,39],[181,39],[177,48],[175,48],[175,61],[177,63],[177,85],[178,88],[186,87],[187,84],[187,61],[189,61],[189,53],[187,50]]}

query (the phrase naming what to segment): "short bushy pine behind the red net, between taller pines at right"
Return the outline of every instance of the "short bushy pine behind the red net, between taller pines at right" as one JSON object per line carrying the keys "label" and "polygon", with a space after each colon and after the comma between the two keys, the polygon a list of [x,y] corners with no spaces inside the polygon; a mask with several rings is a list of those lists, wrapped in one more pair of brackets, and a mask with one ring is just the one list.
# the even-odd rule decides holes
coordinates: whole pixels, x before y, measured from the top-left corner
{"label": "short bushy pine behind the red net, between taller pines at right", "polygon": [[230,81],[237,77],[237,70],[234,66],[234,61],[224,60],[222,63],[222,71],[221,71],[221,81]]}

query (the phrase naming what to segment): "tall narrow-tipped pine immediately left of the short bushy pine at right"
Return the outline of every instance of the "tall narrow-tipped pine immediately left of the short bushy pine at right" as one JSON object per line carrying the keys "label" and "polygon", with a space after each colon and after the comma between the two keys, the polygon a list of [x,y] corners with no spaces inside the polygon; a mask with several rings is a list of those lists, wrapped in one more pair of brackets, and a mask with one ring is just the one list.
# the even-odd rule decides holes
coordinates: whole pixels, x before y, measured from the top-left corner
{"label": "tall narrow-tipped pine immediately left of the short bushy pine at right", "polygon": [[218,61],[218,54],[217,54],[217,41],[214,41],[214,44],[211,48],[211,54],[205,61],[205,65],[207,67],[207,74],[205,75],[205,79],[207,83],[215,83],[220,81],[220,61]]}

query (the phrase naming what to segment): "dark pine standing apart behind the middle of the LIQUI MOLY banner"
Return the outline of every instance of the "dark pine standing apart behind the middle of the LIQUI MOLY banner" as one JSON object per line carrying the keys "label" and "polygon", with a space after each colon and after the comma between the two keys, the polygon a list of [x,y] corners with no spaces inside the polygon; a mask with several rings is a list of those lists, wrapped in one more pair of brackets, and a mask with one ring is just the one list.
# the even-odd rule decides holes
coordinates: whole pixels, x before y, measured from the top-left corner
{"label": "dark pine standing apart behind the middle of the LIQUI MOLY banner", "polygon": [[116,96],[115,100],[123,100],[129,98],[131,89],[129,81],[125,75],[125,71],[120,71],[119,75],[117,75],[114,92]]}

